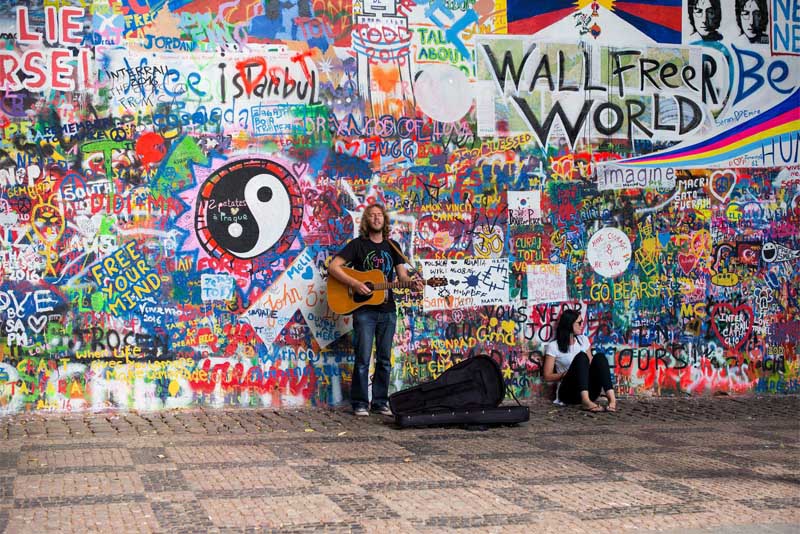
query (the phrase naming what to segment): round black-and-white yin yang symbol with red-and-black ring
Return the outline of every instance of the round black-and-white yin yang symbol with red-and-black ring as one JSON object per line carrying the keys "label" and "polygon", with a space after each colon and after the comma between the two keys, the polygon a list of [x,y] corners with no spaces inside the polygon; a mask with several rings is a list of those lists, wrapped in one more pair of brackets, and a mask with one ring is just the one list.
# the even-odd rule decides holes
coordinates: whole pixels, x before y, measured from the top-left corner
{"label": "round black-and-white yin yang symbol with red-and-black ring", "polygon": [[240,160],[217,169],[200,187],[195,231],[212,256],[251,260],[288,250],[302,214],[297,182],[285,167]]}

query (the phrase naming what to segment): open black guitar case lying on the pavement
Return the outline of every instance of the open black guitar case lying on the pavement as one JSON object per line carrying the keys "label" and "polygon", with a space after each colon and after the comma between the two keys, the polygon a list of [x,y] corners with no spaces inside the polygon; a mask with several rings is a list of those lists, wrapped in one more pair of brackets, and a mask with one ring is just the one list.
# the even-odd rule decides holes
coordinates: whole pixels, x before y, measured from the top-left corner
{"label": "open black guitar case lying on the pavement", "polygon": [[452,425],[486,426],[527,421],[527,406],[500,406],[506,386],[500,366],[488,356],[457,363],[436,380],[389,397],[395,422],[401,427]]}

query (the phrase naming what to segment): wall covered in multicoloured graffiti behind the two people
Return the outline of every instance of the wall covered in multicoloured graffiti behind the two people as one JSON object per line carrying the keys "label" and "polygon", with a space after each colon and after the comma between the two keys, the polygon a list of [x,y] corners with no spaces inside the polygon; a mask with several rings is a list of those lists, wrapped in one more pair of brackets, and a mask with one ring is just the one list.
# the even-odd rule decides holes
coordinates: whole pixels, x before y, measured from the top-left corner
{"label": "wall covered in multicoloured graffiti behind the two people", "polygon": [[797,392],[796,4],[0,1],[0,413],[346,401],[373,202],[447,280],[393,389],[537,395],[573,308],[623,394]]}

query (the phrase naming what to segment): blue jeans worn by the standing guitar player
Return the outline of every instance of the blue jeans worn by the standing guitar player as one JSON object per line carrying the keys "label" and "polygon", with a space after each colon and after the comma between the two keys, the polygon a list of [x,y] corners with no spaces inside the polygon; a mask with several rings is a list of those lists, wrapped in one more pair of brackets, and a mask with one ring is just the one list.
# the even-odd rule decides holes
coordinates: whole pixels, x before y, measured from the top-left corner
{"label": "blue jeans worn by the standing guitar player", "polygon": [[392,367],[392,339],[397,324],[395,312],[366,308],[353,313],[353,349],[356,363],[350,402],[353,409],[369,407],[369,359],[375,345],[375,375],[372,377],[372,407],[389,404],[389,372]]}

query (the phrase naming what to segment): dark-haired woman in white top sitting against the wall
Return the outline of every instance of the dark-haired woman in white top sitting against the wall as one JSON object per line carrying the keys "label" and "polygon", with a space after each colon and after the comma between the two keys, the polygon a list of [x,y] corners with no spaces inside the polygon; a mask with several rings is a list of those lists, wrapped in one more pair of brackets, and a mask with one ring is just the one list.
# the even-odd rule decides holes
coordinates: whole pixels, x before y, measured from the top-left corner
{"label": "dark-haired woman in white top sitting against the wall", "polygon": [[[580,404],[590,412],[616,412],[617,397],[611,384],[611,371],[605,356],[592,357],[589,339],[582,335],[583,319],[575,310],[564,310],[558,319],[556,339],[547,344],[544,379],[561,381],[556,399],[565,404]],[[595,400],[604,391],[608,406]]]}

